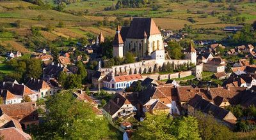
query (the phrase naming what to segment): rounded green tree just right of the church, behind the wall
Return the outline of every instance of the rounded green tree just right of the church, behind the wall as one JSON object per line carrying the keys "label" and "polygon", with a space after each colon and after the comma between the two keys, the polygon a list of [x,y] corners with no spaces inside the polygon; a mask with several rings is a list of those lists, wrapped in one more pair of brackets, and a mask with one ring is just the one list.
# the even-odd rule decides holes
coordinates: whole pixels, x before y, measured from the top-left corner
{"label": "rounded green tree just right of the church, behind the wall", "polygon": [[169,41],[166,50],[168,51],[168,54],[172,59],[182,59],[182,57],[184,57],[184,54],[182,53],[182,48],[177,42]]}

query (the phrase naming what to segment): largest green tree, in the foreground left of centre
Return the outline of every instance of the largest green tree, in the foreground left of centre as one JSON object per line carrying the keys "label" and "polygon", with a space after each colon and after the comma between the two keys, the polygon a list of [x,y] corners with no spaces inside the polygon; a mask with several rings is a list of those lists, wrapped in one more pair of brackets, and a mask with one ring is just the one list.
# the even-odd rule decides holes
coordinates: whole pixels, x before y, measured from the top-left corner
{"label": "largest green tree, in the foreground left of centre", "polygon": [[45,102],[44,123],[32,130],[35,139],[108,139],[112,132],[92,106],[76,101],[72,92],[60,92]]}

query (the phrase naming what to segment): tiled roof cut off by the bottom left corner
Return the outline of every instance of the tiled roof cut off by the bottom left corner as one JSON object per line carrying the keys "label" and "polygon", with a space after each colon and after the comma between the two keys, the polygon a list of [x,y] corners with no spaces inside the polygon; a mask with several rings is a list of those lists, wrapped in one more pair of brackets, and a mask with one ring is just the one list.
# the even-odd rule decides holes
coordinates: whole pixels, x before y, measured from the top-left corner
{"label": "tiled roof cut off by the bottom left corner", "polygon": [[4,137],[4,140],[29,140],[32,139],[29,134],[26,134],[22,130],[16,129],[15,127],[0,129],[1,136]]}

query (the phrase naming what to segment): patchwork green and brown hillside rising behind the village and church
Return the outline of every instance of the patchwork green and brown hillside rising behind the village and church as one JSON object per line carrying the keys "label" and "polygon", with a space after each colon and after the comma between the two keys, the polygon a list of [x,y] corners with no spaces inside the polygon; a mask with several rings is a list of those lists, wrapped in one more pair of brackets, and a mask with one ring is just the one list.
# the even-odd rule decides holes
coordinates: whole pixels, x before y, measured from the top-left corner
{"label": "patchwork green and brown hillside rising behind the village and church", "polygon": [[[116,21],[116,17],[123,18],[123,21],[130,20],[131,17],[154,17],[156,24],[162,29],[177,31],[187,25],[192,29],[204,29],[204,32],[198,31],[201,32],[200,34],[191,34],[194,39],[218,40],[226,36],[221,30],[223,27],[252,24],[256,19],[256,12],[253,10],[256,9],[256,4],[250,1],[210,3],[193,0],[180,2],[154,0],[141,8],[124,7],[108,10],[106,8],[115,8],[116,0],[88,0],[67,4],[63,11],[54,10],[57,4],[54,4],[53,0],[45,0],[44,3],[52,8],[44,9],[44,6],[24,1],[1,1],[0,41],[15,41],[23,47],[20,50],[26,48],[24,52],[28,52],[44,47],[45,44],[50,45],[55,40],[60,40],[60,37],[73,40],[90,39],[100,31],[104,36],[113,36],[115,25],[119,22]],[[63,27],[56,27],[60,22]],[[51,25],[54,29],[45,30],[47,25]],[[40,35],[35,37],[31,27],[40,27]],[[208,36],[205,38],[205,35]],[[1,45],[6,46],[4,42]],[[54,45],[61,46],[58,43]],[[19,50],[16,46],[12,48]]]}

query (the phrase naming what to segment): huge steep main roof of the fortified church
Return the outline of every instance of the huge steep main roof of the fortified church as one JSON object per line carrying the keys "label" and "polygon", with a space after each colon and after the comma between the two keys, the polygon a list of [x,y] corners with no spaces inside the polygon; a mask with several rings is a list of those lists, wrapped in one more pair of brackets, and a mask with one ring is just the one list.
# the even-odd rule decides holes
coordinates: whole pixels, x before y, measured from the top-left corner
{"label": "huge steep main roof of the fortified church", "polygon": [[126,38],[144,38],[147,36],[161,34],[153,18],[133,18]]}

